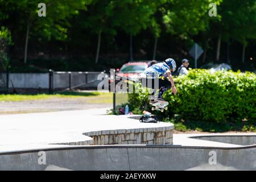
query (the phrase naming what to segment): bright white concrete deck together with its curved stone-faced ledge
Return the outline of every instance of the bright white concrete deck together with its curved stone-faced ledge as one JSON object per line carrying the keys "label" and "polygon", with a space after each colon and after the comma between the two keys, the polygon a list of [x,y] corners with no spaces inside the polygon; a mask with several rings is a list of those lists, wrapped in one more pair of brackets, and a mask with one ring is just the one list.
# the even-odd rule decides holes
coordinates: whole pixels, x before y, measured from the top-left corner
{"label": "bright white concrete deck together with its curved stone-faced ledge", "polygon": [[79,146],[172,143],[174,125],[171,123],[141,123],[129,118],[131,115],[107,115],[105,111],[88,109],[1,115],[0,144]]}

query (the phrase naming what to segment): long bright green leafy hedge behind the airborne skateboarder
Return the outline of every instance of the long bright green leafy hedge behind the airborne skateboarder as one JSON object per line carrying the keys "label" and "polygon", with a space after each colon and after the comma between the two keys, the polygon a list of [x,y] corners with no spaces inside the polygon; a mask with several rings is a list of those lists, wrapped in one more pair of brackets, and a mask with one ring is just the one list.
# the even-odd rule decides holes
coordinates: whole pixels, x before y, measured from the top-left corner
{"label": "long bright green leafy hedge behind the airborne skateboarder", "polygon": [[[205,69],[192,69],[187,76],[176,77],[175,85],[178,90],[175,96],[171,90],[163,96],[170,102],[164,114],[167,117],[180,114],[194,121],[256,121],[254,73],[210,73]],[[140,106],[139,109],[148,109],[147,96],[145,93],[129,94],[129,103]]]}

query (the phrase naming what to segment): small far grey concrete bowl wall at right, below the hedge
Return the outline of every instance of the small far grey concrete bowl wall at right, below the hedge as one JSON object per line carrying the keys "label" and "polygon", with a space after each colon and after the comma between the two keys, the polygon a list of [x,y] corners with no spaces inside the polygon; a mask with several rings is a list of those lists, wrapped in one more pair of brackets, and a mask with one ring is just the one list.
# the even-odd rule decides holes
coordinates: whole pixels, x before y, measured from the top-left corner
{"label": "small far grey concrete bowl wall at right, below the hedge", "polygon": [[203,135],[189,138],[209,140],[221,143],[238,144],[241,146],[256,144],[256,135]]}

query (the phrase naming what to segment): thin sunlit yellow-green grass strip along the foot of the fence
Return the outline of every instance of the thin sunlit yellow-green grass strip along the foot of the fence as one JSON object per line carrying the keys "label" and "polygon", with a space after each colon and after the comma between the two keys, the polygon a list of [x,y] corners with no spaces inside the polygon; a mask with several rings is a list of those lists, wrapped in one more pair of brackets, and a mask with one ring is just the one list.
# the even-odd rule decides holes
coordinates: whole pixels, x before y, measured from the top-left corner
{"label": "thin sunlit yellow-green grass strip along the foot of the fence", "polygon": [[[2,102],[17,102],[30,100],[46,100],[51,98],[77,98],[77,97],[96,97],[104,96],[105,93],[100,92],[63,92],[57,94],[0,94]],[[108,93],[106,93],[108,94]]]}

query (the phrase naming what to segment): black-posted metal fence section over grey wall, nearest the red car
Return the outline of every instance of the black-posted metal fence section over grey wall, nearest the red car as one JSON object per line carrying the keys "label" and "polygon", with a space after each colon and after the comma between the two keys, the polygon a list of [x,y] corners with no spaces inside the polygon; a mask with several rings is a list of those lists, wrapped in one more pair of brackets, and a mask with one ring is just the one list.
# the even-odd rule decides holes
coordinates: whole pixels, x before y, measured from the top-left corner
{"label": "black-posted metal fence section over grey wall, nearest the red car", "polygon": [[49,94],[72,89],[97,89],[104,72],[55,72],[49,70]]}

